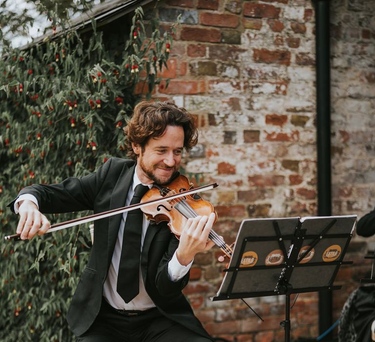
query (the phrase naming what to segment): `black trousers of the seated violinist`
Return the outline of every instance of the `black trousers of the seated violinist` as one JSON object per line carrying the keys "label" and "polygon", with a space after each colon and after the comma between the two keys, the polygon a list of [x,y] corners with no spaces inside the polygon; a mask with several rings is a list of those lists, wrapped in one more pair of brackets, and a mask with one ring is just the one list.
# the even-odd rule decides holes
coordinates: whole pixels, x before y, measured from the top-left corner
{"label": "black trousers of the seated violinist", "polygon": [[119,313],[104,299],[98,317],[77,342],[209,342],[167,319],[157,308]]}

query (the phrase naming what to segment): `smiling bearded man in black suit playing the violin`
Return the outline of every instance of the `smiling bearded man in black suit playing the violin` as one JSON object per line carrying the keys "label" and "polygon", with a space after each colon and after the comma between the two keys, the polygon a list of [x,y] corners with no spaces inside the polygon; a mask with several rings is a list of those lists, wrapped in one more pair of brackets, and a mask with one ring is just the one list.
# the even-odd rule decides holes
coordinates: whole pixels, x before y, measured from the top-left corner
{"label": "smiling bearded man in black suit playing the violin", "polygon": [[[21,239],[50,228],[42,213],[99,213],[131,204],[139,184],[168,184],[183,149],[198,136],[192,116],[167,102],[139,103],[124,130],[130,160],[110,158],[81,178],[22,189],[10,204],[20,214]],[[137,221],[130,213],[95,221],[89,261],[67,314],[77,341],[211,341],[181,291],[194,256],[214,244],[208,234],[215,214],[189,218],[178,240],[166,222],[144,215]],[[132,244],[135,236],[139,242]]]}

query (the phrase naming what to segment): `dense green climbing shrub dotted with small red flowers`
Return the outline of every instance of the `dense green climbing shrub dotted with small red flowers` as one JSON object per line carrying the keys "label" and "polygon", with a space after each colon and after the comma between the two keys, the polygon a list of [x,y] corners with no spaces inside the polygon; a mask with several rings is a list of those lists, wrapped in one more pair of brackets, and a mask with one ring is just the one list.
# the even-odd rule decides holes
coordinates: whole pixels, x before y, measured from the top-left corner
{"label": "dense green climbing shrub dotted with small red flowers", "polygon": [[[150,96],[172,44],[172,32],[161,36],[152,25],[147,38],[137,9],[117,60],[94,29],[86,41],[67,32],[0,61],[2,236],[16,231],[18,216],[6,205],[23,187],[82,176],[110,156],[125,156],[122,129],[139,99],[134,88],[145,82]],[[48,218],[57,223],[84,214]],[[0,341],[71,341],[64,316],[87,261],[87,227],[0,241]]]}

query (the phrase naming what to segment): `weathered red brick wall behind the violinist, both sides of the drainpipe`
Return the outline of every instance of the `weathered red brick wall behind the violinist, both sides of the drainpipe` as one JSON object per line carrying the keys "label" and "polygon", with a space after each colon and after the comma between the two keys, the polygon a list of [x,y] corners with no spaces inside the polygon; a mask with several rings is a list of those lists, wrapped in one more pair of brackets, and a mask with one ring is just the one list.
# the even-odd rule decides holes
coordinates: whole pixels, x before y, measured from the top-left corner
{"label": "weathered red brick wall behind the violinist, both sides of the drainpipe", "polygon": [[[331,1],[333,214],[375,206],[373,123],[375,2]],[[315,37],[311,0],[162,0],[166,26],[181,14],[156,89],[197,117],[199,145],[185,157],[218,213],[215,230],[233,242],[243,218],[316,214]],[[367,241],[355,237],[334,294],[335,318],[369,265]],[[284,341],[284,297],[212,303],[223,265],[213,249],[195,258],[185,290],[208,332],[229,341]],[[358,266],[362,265],[362,266]],[[368,276],[368,275],[367,275]],[[300,295],[292,336],[318,335],[317,295]]]}

